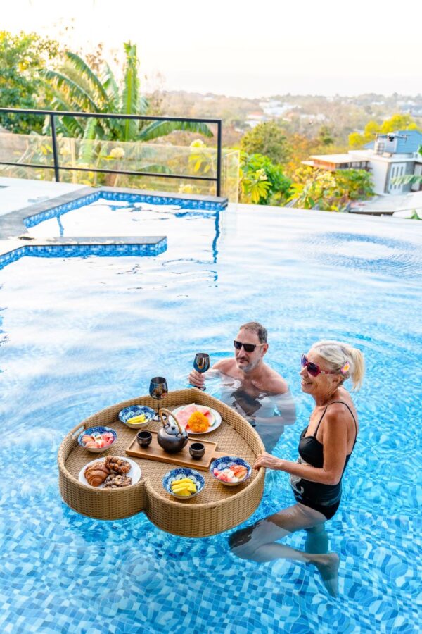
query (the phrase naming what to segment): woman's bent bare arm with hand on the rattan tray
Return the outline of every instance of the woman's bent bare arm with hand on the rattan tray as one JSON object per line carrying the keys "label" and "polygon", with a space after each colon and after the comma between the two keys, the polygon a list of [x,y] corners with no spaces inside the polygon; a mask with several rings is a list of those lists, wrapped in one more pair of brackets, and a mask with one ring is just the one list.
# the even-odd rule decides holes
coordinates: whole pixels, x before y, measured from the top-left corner
{"label": "woman's bent bare arm with hand on the rattan tray", "polygon": [[[326,413],[324,417],[324,465],[322,468],[313,467],[309,464],[300,464],[271,456],[271,454],[261,454],[255,462],[255,469],[267,467],[285,471],[298,478],[318,482],[326,485],[336,485],[340,482],[347,455],[347,420],[343,411],[337,408]],[[328,413],[329,412],[329,413]],[[339,415],[340,414],[340,415]]]}

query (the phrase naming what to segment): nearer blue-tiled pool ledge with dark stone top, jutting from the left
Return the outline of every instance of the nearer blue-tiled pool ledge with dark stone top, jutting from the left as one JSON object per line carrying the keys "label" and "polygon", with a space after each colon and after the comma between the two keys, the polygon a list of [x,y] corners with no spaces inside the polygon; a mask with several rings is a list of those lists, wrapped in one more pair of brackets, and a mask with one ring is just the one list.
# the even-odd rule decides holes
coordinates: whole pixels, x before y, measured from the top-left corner
{"label": "nearer blue-tiled pool ledge with dark stone top, jutting from the left", "polygon": [[44,240],[22,238],[22,246],[0,251],[0,268],[24,257],[80,258],[87,256],[157,256],[167,249],[167,236],[51,237]]}

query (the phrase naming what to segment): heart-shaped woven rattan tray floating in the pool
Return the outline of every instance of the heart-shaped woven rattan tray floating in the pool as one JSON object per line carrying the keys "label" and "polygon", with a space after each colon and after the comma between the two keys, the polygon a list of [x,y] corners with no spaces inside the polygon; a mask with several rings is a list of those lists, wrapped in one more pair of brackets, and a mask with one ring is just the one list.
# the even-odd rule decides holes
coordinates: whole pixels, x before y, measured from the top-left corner
{"label": "heart-shaped woven rattan tray floating in the pool", "polygon": [[[193,400],[221,414],[222,424],[207,435],[207,440],[217,442],[219,452],[241,456],[250,464],[254,463],[258,454],[264,452],[262,440],[248,421],[231,407],[200,390],[169,392],[160,401],[160,406],[173,409]],[[203,491],[183,502],[174,499],[162,488],[162,477],[173,468],[172,464],[133,456],[132,460],[141,467],[139,483],[111,490],[96,489],[80,483],[79,471],[94,457],[125,455],[125,449],[136,435],[136,430],[120,423],[117,414],[124,407],[135,403],[150,407],[157,405],[157,401],[151,397],[139,397],[113,405],[90,416],[65,436],[58,450],[58,468],[60,493],[68,506],[82,515],[104,520],[122,519],[145,511],[158,528],[184,537],[206,537],[221,533],[238,526],[255,511],[264,490],[263,469],[252,471],[250,478],[237,487],[225,487],[210,473],[202,472],[205,476]],[[91,454],[77,444],[79,433],[95,425],[107,425],[117,431],[117,441],[103,454]],[[160,423],[148,425],[150,430],[159,428]]]}

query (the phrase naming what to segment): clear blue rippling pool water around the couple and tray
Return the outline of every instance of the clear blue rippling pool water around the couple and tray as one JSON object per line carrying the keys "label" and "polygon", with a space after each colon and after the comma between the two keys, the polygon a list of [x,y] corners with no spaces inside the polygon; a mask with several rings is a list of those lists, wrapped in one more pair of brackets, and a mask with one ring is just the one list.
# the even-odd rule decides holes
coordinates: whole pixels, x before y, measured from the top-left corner
{"label": "clear blue rippling pool water around the couple and tray", "polygon": [[[246,206],[144,211],[90,220],[85,210],[77,235],[93,223],[95,235],[167,235],[159,256],[24,257],[0,272],[1,631],[416,632],[418,223]],[[231,531],[193,540],[163,533],[143,514],[95,521],[58,492],[56,454],[70,428],[146,394],[153,375],[184,387],[194,354],[205,350],[213,362],[233,354],[238,325],[250,320],[267,326],[267,361],[297,405],[298,421],[274,449],[286,459],[296,459],[312,410],[300,391],[300,354],[324,337],[366,357],[358,442],[327,523],[340,556],[337,599],[315,568],[236,559]],[[211,390],[218,395],[214,383]],[[243,526],[292,502],[288,476],[269,472]],[[286,541],[302,549],[305,533]]]}

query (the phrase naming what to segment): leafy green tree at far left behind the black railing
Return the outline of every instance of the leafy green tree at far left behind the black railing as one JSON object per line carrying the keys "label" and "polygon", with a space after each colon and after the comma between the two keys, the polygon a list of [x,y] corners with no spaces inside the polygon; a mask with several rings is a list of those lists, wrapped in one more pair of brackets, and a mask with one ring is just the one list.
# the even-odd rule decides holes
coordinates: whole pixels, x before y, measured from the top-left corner
{"label": "leafy green tree at far left behind the black railing", "polygon": [[[0,106],[36,109],[46,106],[47,96],[39,68],[58,56],[58,42],[36,33],[12,35],[0,31]],[[28,134],[41,132],[43,118],[36,115],[3,114],[6,130]]]}

